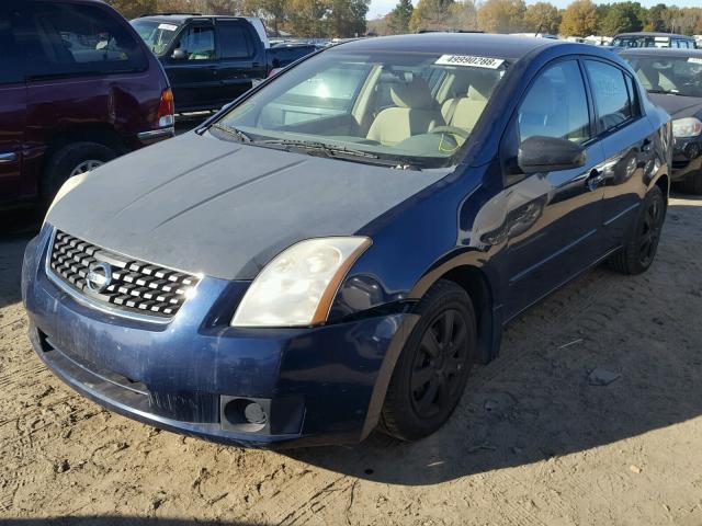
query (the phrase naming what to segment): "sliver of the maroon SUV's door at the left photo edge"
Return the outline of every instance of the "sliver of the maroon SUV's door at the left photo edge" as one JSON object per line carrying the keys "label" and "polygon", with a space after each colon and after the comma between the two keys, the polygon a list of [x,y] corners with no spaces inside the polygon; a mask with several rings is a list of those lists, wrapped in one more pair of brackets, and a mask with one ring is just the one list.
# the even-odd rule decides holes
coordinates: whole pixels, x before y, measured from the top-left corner
{"label": "sliver of the maroon SUV's door at the left photo edge", "polygon": [[16,199],[26,118],[24,64],[12,31],[13,10],[0,5],[0,203]]}

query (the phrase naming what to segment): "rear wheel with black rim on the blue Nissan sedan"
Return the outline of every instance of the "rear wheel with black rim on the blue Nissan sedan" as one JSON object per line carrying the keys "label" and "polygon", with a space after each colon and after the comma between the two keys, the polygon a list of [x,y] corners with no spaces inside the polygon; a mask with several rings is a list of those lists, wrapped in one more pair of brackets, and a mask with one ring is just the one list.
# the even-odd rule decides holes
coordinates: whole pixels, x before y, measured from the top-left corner
{"label": "rear wheel with black rim on the blue Nissan sedan", "polygon": [[665,220],[666,201],[660,188],[654,186],[642,203],[624,247],[609,259],[609,266],[622,274],[646,272],[656,256]]}

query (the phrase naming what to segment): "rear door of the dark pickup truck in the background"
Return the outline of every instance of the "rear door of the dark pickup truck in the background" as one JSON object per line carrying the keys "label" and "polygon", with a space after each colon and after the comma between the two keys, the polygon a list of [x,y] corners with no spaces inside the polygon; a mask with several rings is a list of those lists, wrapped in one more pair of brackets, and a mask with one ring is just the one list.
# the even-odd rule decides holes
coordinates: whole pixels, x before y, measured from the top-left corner
{"label": "rear door of the dark pickup truck in the background", "polygon": [[251,24],[244,20],[218,20],[220,103],[231,102],[248,91],[253,79],[265,78],[263,45]]}

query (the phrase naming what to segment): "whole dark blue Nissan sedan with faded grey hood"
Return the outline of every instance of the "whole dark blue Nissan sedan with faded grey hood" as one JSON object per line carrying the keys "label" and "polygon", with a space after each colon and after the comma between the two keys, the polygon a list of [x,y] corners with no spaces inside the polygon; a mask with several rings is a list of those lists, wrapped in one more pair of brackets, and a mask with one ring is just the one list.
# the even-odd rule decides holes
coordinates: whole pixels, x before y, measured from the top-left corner
{"label": "whole dark blue Nissan sedan with faded grey hood", "polygon": [[159,427],[420,438],[509,320],[602,261],[650,266],[670,149],[604,49],[335,46],[67,183],[26,250],[30,336],[76,390]]}

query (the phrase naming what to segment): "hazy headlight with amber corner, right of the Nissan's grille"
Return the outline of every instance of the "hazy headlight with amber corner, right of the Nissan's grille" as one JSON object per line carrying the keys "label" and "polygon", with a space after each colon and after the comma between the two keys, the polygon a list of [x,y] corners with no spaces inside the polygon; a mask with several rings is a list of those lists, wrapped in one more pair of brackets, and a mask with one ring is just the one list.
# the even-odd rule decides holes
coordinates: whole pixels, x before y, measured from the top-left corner
{"label": "hazy headlight with amber corner, right of the Nissan's grille", "polygon": [[331,302],[369,238],[319,238],[293,244],[253,279],[234,327],[307,327],[327,320]]}

